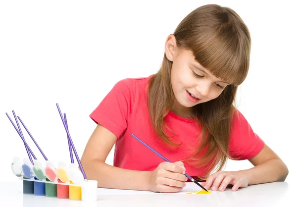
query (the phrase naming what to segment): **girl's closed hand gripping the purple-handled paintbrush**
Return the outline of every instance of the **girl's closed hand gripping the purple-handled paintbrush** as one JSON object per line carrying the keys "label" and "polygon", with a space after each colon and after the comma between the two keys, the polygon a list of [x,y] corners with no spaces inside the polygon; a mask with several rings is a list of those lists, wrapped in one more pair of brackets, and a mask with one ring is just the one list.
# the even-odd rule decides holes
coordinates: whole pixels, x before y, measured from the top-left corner
{"label": "girl's closed hand gripping the purple-handled paintbrush", "polygon": [[186,186],[186,169],[184,163],[161,162],[155,170],[149,174],[149,189],[153,192],[172,193],[179,192]]}

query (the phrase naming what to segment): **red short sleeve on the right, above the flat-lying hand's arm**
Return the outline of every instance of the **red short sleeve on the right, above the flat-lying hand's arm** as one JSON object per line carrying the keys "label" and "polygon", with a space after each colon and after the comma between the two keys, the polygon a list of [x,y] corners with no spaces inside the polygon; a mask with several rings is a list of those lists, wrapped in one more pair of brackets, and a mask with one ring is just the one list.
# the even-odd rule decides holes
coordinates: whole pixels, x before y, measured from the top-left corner
{"label": "red short sleeve on the right, above the flat-lying hand's arm", "polygon": [[255,134],[244,115],[236,110],[230,133],[229,153],[231,158],[244,160],[258,155],[264,142]]}

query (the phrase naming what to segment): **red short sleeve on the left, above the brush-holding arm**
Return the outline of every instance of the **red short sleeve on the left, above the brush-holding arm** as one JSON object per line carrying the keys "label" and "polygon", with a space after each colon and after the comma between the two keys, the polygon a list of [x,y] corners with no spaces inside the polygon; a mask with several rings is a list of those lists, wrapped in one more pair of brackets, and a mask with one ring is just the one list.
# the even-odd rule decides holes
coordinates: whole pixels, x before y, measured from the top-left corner
{"label": "red short sleeve on the left, above the brush-holding arm", "polygon": [[127,120],[135,102],[136,83],[132,78],[117,82],[90,117],[118,138],[127,128]]}

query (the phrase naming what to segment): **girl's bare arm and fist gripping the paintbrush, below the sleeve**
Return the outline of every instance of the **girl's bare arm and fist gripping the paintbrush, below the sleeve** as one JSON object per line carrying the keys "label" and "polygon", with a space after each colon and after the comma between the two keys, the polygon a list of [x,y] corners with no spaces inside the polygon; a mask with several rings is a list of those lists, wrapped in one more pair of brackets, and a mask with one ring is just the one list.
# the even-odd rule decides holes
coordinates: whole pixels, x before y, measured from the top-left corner
{"label": "girl's bare arm and fist gripping the paintbrush, below the sleeve", "polygon": [[[87,178],[97,180],[98,187],[154,192],[182,190],[187,180],[182,162],[162,162],[152,172],[122,169],[106,164],[106,157],[116,140],[117,137],[112,132],[98,124],[82,155],[81,162]],[[170,177],[173,179],[168,179]]]}

